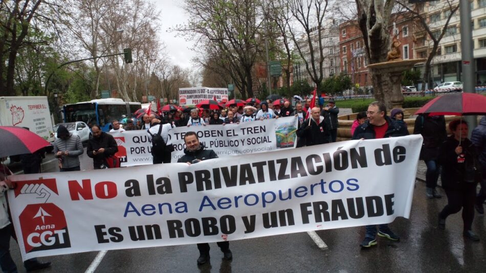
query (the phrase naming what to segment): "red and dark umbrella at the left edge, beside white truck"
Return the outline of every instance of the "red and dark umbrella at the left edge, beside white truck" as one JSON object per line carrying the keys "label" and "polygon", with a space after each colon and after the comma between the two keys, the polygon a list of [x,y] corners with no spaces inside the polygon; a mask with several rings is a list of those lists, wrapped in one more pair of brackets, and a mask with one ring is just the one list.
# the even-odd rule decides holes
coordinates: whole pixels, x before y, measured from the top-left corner
{"label": "red and dark umbrella at the left edge, beside white truck", "polygon": [[33,153],[51,145],[37,134],[16,126],[0,126],[0,140],[0,157]]}

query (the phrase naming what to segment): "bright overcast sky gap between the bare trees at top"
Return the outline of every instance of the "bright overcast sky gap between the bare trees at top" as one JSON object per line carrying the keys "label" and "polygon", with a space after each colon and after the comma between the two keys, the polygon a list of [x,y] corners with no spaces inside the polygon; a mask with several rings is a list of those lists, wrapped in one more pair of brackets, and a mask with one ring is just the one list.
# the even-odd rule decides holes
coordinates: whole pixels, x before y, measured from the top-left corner
{"label": "bright overcast sky gap between the bare trees at top", "polygon": [[180,7],[182,1],[156,0],[154,3],[161,11],[162,26],[159,37],[165,43],[167,54],[172,59],[172,63],[178,64],[183,68],[192,67],[191,58],[194,56],[194,52],[189,48],[192,47],[193,43],[185,41],[183,37],[174,37],[175,33],[173,32],[167,32],[169,28],[186,22],[187,14]]}

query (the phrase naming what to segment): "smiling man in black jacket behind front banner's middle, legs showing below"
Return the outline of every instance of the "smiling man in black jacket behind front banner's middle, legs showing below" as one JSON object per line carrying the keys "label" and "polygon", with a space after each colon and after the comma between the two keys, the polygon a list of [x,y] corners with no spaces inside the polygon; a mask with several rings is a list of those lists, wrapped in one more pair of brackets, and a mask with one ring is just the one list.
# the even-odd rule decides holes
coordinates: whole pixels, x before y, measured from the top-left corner
{"label": "smiling man in black jacket behind front banner's middle, legs showing below", "polygon": [[[187,163],[189,165],[196,164],[203,160],[209,160],[211,158],[217,158],[218,156],[213,150],[205,150],[204,145],[200,144],[197,134],[193,131],[189,131],[184,135],[184,142],[186,143],[186,149],[184,149],[185,155],[179,158],[178,163]],[[217,242],[217,245],[224,253],[225,260],[233,259],[233,254],[230,251],[230,243],[228,241]],[[209,243],[198,243],[197,249],[199,249],[199,258],[197,264],[201,265],[209,260]]]}

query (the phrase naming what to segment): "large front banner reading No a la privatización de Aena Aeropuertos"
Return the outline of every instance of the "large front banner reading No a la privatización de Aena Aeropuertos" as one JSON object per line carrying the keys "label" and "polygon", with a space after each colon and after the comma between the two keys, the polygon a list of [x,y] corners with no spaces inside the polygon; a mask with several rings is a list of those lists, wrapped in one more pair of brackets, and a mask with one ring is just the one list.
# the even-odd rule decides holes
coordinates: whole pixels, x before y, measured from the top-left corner
{"label": "large front banner reading No a la privatizaci\u00f3n de Aena Aeropuertos", "polygon": [[16,175],[23,259],[408,218],[421,135],[120,169]]}

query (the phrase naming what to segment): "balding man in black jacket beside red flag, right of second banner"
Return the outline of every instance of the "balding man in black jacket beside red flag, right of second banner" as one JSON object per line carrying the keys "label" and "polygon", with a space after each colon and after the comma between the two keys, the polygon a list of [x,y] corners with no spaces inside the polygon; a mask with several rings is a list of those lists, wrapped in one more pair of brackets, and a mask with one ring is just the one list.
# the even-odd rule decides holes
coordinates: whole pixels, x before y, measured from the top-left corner
{"label": "balding man in black jacket beside red flag, right of second banner", "polygon": [[297,130],[297,135],[305,139],[305,146],[329,143],[329,129],[327,128],[324,117],[321,116],[321,109],[319,107],[311,109],[311,117],[304,120],[302,126]]}

